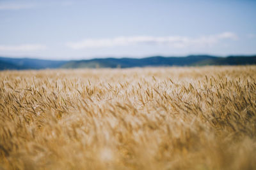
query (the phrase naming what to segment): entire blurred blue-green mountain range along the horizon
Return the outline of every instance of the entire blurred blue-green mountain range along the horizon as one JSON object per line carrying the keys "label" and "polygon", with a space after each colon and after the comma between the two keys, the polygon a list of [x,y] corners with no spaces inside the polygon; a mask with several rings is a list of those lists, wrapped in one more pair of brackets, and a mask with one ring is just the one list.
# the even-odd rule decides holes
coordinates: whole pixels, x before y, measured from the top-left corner
{"label": "entire blurred blue-green mountain range along the horizon", "polygon": [[217,57],[212,55],[189,55],[187,57],[107,58],[91,60],[40,60],[0,57],[0,70],[4,69],[57,69],[96,67],[160,67],[160,66],[206,66],[206,65],[251,65],[256,64],[256,55]]}

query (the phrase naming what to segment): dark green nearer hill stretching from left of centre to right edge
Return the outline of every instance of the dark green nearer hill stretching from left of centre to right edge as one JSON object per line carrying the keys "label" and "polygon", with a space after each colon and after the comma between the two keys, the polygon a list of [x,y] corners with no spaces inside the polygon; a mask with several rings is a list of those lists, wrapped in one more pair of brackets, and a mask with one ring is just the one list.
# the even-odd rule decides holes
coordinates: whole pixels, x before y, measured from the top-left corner
{"label": "dark green nearer hill stretching from left of centre to right edge", "polygon": [[249,65],[256,64],[255,56],[216,57],[211,55],[189,55],[188,57],[147,57],[143,59],[108,58],[92,60],[72,60],[63,64],[63,68],[83,67],[159,67],[159,66],[205,66],[205,65]]}

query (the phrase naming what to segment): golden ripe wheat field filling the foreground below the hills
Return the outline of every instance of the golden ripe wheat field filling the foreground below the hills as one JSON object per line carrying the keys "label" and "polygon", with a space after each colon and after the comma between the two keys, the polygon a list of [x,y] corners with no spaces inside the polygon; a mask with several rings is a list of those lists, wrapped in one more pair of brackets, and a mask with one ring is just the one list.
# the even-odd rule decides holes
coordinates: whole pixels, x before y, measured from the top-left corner
{"label": "golden ripe wheat field filling the foreground below the hills", "polygon": [[256,66],[0,72],[0,169],[256,169]]}

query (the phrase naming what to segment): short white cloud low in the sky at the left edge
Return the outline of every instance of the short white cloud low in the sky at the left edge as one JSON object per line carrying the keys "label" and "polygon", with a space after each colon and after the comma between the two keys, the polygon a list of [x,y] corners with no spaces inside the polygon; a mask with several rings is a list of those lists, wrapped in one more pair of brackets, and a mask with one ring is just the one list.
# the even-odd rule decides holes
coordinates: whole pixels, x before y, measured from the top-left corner
{"label": "short white cloud low in the sky at the left edge", "polygon": [[0,45],[0,52],[32,52],[45,49],[44,45]]}

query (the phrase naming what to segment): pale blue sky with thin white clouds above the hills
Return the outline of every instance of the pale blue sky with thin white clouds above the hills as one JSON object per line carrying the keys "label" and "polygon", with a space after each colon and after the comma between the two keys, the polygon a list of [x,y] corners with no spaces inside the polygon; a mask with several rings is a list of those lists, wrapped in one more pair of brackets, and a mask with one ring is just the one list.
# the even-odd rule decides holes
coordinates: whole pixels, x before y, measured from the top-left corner
{"label": "pale blue sky with thin white clouds above the hills", "polygon": [[0,0],[0,56],[255,55],[256,1]]}

